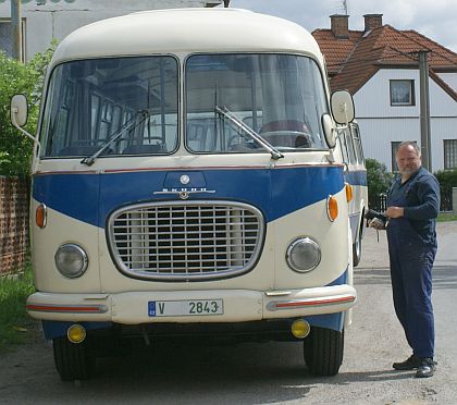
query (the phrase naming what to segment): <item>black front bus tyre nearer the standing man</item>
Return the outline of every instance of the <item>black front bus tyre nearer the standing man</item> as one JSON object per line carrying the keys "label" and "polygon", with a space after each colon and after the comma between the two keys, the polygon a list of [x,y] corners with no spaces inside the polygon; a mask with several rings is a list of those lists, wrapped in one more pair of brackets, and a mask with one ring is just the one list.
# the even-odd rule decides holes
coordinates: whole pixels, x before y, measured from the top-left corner
{"label": "black front bus tyre nearer the standing man", "polygon": [[314,376],[336,376],[343,363],[344,331],[311,328],[304,341],[304,357]]}

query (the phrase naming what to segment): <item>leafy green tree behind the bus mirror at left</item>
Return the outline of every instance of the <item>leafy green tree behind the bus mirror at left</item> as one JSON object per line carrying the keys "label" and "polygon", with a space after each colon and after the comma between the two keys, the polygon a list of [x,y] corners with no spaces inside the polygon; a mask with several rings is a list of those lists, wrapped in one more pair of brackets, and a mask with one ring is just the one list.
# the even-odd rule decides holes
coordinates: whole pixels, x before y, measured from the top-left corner
{"label": "leafy green tree behind the bus mirror at left", "polygon": [[0,175],[26,176],[30,170],[33,142],[11,125],[10,102],[15,94],[28,100],[28,121],[25,130],[36,133],[42,81],[55,42],[27,63],[21,63],[0,52]]}

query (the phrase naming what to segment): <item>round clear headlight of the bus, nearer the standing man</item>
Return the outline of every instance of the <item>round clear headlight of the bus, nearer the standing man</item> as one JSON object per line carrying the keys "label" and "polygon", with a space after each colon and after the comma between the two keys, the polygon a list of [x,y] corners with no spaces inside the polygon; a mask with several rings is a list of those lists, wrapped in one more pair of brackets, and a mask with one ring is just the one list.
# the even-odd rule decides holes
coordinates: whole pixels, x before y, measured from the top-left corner
{"label": "round clear headlight of the bus, nearer the standing man", "polygon": [[295,240],[287,248],[287,265],[300,273],[311,271],[321,261],[319,245],[309,237]]}

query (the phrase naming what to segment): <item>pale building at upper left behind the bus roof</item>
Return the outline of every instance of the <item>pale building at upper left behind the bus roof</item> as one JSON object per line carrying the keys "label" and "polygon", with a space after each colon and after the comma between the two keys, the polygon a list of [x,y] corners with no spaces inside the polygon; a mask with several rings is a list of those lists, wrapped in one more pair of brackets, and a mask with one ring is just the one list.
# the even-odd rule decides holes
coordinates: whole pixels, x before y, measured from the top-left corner
{"label": "pale building at upper left behind the bus roof", "polygon": [[[95,21],[153,9],[215,7],[223,0],[22,0],[23,54],[29,60]],[[11,56],[11,0],[0,0],[0,50]]]}

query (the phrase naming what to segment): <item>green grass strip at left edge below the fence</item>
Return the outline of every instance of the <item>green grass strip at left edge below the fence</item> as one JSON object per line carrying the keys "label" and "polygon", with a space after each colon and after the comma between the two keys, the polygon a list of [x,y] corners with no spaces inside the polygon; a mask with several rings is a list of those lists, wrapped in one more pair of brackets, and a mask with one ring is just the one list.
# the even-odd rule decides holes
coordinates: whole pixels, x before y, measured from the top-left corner
{"label": "green grass strip at left edge below the fence", "polygon": [[29,262],[18,275],[0,278],[0,353],[30,338],[34,321],[25,310],[25,300],[34,291]]}

